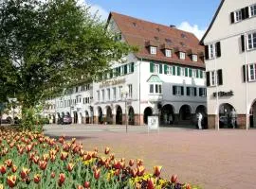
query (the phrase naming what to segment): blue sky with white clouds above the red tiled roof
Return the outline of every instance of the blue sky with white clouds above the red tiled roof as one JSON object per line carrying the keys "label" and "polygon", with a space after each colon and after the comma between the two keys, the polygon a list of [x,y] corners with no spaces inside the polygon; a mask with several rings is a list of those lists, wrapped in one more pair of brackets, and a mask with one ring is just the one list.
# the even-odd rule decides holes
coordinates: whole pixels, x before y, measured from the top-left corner
{"label": "blue sky with white clouds above the red tiled roof", "polygon": [[99,10],[102,19],[110,11],[190,31],[200,40],[221,0],[79,0]]}

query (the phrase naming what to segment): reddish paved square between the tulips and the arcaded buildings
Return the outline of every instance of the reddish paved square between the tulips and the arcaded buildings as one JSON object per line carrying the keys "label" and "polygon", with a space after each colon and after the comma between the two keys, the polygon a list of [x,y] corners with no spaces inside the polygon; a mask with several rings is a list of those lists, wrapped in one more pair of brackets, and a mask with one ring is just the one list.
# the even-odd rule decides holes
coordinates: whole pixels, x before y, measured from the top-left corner
{"label": "reddish paved square between the tulips and the arcaded buildings", "polygon": [[146,127],[50,125],[51,136],[77,137],[88,150],[110,146],[118,158],[143,159],[148,171],[163,165],[162,176],[206,189],[256,188],[256,129],[197,130]]}

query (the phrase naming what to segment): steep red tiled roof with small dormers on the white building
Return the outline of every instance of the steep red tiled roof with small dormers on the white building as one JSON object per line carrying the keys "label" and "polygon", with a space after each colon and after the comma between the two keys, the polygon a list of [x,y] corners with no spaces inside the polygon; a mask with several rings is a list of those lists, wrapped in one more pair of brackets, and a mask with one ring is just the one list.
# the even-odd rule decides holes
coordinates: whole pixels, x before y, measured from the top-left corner
{"label": "steep red tiled roof with small dormers on the white building", "polygon": [[[199,44],[199,40],[192,33],[116,12],[110,13],[108,21],[111,18],[119,26],[125,41],[138,47],[137,58],[205,68],[204,60],[199,58],[204,52],[204,46]],[[156,55],[150,54],[148,45],[157,46]],[[165,57],[163,47],[174,49],[172,58]],[[186,52],[186,60],[179,60],[177,51]],[[192,61],[190,54],[197,54],[198,61]]]}

